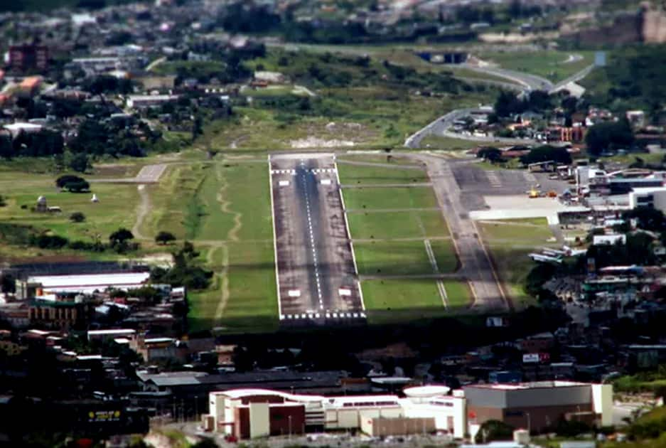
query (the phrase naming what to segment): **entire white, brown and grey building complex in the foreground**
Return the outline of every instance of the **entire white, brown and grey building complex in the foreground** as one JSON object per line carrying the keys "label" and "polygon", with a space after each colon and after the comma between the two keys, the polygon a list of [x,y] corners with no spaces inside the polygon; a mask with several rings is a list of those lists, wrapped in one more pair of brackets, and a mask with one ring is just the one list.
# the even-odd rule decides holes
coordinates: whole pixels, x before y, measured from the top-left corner
{"label": "entire white, brown and grey building complex in the foreground", "polygon": [[[404,395],[404,396],[403,396]],[[427,385],[398,395],[325,397],[267,389],[212,392],[205,430],[238,439],[323,431],[375,437],[445,432],[463,438],[488,420],[535,432],[560,419],[610,425],[612,385],[546,381],[471,385],[462,390]]]}

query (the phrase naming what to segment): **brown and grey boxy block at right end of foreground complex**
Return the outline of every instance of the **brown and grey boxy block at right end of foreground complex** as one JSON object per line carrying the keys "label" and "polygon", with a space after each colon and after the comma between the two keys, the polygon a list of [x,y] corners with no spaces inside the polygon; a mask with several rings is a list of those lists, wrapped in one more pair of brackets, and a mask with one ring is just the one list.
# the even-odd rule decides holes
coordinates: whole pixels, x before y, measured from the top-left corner
{"label": "brown and grey boxy block at right end of foreground complex", "polygon": [[542,381],[517,385],[471,385],[463,388],[473,425],[500,420],[513,427],[542,431],[560,419],[611,425],[613,386]]}

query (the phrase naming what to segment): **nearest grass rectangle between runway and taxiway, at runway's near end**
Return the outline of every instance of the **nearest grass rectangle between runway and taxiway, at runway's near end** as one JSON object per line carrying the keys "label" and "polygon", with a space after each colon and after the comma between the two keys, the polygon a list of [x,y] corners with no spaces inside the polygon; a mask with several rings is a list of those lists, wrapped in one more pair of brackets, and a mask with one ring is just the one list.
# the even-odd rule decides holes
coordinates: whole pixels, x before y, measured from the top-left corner
{"label": "nearest grass rectangle between runway and taxiway, at runway's near end", "polygon": [[436,319],[463,311],[471,301],[464,282],[444,282],[449,297],[448,310],[433,279],[365,280],[361,287],[370,324]]}

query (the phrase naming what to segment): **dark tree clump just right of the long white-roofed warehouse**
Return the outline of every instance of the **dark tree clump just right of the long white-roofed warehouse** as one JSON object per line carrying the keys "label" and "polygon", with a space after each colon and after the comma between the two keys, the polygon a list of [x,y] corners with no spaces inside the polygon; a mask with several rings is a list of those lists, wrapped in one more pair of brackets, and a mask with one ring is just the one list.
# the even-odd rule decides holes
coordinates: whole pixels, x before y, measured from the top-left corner
{"label": "dark tree clump just right of the long white-roofed warehouse", "polygon": [[176,287],[188,289],[206,289],[213,278],[213,272],[203,269],[197,260],[199,252],[191,242],[183,242],[183,246],[173,252],[173,265],[168,269],[156,267],[151,272],[151,281],[168,283]]}

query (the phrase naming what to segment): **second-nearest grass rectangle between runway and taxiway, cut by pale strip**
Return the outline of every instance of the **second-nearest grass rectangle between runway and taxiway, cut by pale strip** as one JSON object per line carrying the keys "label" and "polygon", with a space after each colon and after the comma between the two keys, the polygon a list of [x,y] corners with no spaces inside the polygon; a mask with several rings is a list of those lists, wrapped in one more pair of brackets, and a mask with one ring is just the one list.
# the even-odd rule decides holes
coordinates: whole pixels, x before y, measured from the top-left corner
{"label": "second-nearest grass rectangle between runway and taxiway, cut by pale strip", "polygon": [[[431,241],[440,272],[453,272],[458,259],[450,240]],[[361,275],[434,273],[423,241],[362,242],[354,245]]]}

